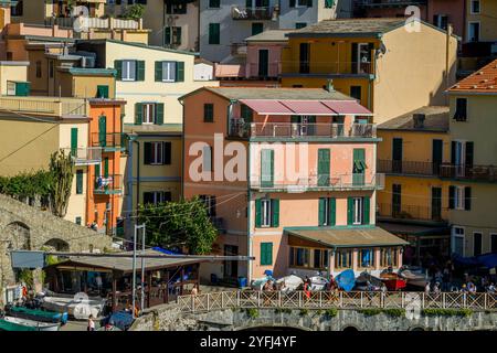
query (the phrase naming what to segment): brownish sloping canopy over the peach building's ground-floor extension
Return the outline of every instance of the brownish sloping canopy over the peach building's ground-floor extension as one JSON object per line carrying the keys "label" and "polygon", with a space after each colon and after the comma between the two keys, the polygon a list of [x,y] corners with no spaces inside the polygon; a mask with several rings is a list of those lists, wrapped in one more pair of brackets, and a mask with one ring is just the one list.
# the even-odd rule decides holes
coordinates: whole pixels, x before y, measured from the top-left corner
{"label": "brownish sloping canopy over the peach building's ground-floor extension", "polygon": [[387,247],[409,245],[408,242],[379,227],[364,228],[324,228],[324,229],[284,229],[292,237],[300,238],[324,247]]}

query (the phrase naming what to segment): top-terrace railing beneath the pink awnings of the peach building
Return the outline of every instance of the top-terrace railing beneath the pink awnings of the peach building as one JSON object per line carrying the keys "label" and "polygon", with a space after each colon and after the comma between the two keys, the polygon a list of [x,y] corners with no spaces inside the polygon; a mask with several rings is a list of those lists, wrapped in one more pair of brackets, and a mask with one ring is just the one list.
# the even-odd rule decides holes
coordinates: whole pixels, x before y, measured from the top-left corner
{"label": "top-terrace railing beneath the pink awnings of the peach building", "polygon": [[376,138],[374,124],[294,124],[294,122],[250,122],[231,119],[230,136],[242,138]]}

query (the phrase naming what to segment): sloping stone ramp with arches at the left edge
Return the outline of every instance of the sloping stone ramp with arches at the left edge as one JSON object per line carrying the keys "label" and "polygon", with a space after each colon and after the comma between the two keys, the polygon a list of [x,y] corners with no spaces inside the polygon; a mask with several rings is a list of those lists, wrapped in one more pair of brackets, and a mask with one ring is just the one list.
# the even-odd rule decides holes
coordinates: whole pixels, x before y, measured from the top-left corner
{"label": "sloping stone ramp with arches at the left edge", "polygon": [[0,194],[0,287],[14,282],[9,249],[103,250],[112,239]]}

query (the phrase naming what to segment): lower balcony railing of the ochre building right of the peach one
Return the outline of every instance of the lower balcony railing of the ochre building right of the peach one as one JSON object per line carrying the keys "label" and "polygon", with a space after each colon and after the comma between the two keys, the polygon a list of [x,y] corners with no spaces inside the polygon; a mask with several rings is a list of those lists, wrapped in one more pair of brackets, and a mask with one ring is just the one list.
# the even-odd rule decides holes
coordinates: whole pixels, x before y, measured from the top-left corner
{"label": "lower balcony railing of the ochre building right of the peach one", "polygon": [[378,204],[378,216],[393,220],[414,220],[414,221],[446,221],[447,208],[427,207],[417,205],[396,205],[392,203]]}

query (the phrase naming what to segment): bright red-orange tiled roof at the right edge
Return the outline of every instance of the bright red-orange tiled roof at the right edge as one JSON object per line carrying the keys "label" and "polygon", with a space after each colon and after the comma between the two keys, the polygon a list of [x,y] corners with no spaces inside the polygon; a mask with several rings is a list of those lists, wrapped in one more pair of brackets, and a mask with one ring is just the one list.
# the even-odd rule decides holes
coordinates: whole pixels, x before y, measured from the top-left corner
{"label": "bright red-orange tiled roof at the right edge", "polygon": [[497,93],[497,60],[459,81],[448,92]]}

